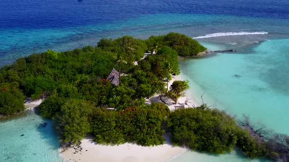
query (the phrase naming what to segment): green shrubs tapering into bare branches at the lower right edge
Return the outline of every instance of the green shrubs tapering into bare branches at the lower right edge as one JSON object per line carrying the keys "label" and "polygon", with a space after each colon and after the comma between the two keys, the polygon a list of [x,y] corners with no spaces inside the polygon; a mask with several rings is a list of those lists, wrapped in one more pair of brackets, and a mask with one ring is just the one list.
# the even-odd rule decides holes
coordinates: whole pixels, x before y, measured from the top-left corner
{"label": "green shrubs tapering into bare branches at the lower right edge", "polygon": [[254,128],[245,122],[246,126],[242,127],[243,124],[237,124],[224,111],[209,109],[206,105],[177,109],[168,116],[168,127],[175,145],[214,154],[229,152],[237,146],[249,158],[288,161],[289,136],[275,134],[265,138],[267,130]]}

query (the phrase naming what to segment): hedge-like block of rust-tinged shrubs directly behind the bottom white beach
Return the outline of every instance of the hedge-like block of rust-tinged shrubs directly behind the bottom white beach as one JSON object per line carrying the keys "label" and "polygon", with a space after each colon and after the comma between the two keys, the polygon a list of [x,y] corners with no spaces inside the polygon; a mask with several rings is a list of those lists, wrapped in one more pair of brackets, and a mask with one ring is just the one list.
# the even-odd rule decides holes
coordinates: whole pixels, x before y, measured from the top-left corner
{"label": "hedge-like block of rust-tinged shrubs directly behind the bottom white beach", "polygon": [[91,132],[95,141],[103,144],[163,144],[163,124],[168,114],[169,108],[163,103],[127,107],[124,111],[97,108],[91,119]]}

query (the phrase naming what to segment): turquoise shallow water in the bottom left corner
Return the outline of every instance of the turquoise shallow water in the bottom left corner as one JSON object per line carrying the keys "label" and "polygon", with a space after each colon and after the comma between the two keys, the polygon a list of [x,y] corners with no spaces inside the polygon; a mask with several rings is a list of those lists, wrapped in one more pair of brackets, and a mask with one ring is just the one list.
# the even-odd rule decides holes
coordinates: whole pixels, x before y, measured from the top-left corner
{"label": "turquoise shallow water in the bottom left corner", "polygon": [[[39,128],[43,122],[48,125]],[[0,122],[0,162],[62,162],[58,148],[52,122],[34,113]]]}

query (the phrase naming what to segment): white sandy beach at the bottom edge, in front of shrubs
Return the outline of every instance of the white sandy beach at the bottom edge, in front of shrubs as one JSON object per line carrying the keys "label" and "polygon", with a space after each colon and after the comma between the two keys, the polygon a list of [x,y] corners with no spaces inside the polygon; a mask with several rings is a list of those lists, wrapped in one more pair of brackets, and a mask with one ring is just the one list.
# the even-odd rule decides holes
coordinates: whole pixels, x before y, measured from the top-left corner
{"label": "white sandy beach at the bottom edge, in front of shrubs", "polygon": [[186,151],[185,148],[163,144],[153,147],[144,147],[125,143],[116,146],[99,145],[92,139],[81,141],[82,151],[75,153],[69,148],[61,155],[70,162],[166,162]]}

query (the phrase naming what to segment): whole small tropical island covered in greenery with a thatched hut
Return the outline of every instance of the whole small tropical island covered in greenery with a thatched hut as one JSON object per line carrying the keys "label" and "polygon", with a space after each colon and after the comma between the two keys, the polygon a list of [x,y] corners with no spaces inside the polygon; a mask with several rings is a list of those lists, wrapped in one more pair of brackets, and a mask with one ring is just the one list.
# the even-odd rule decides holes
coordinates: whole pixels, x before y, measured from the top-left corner
{"label": "whole small tropical island covered in greenery with a thatched hut", "polygon": [[192,38],[169,33],[32,54],[0,69],[0,117],[24,112],[27,98],[43,99],[37,112],[53,120],[62,151],[72,148],[77,154],[90,151],[80,148],[89,137],[108,147],[169,141],[199,152],[224,154],[238,148],[250,159],[289,161],[287,135],[255,126],[245,116],[237,120],[204,102],[179,101],[190,88],[177,77],[179,58],[205,51]]}

